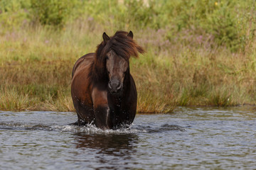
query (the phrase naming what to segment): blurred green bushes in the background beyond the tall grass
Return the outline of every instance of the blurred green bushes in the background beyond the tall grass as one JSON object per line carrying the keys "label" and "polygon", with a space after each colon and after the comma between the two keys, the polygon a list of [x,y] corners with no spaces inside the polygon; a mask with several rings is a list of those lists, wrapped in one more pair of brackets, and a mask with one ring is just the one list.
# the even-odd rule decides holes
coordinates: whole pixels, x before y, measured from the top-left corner
{"label": "blurred green bushes in the background beyond the tall grass", "polygon": [[38,23],[63,28],[89,18],[116,29],[166,29],[171,42],[177,42],[180,32],[202,35],[236,52],[255,38],[255,6],[255,0],[1,0],[0,21],[8,31]]}

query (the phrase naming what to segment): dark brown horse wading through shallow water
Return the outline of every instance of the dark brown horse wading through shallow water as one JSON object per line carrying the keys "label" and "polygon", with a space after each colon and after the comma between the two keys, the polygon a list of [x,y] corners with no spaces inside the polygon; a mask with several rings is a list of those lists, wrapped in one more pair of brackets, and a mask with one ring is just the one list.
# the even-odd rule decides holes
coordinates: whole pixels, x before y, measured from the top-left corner
{"label": "dark brown horse wading through shallow water", "polygon": [[129,58],[144,52],[134,42],[133,33],[106,33],[95,53],[75,62],[71,96],[78,113],[75,125],[92,123],[113,129],[133,122],[137,108],[137,90],[129,72]]}

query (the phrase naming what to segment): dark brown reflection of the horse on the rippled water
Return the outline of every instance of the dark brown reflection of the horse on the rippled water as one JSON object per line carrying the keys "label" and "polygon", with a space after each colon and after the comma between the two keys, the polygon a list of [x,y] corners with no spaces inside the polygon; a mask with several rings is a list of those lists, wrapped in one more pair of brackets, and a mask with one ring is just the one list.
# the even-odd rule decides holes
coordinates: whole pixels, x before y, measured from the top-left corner
{"label": "dark brown reflection of the horse on the rippled water", "polygon": [[[77,149],[93,149],[95,159],[92,168],[129,169],[128,162],[136,152],[138,136],[135,134],[82,134],[74,135]],[[122,164],[120,164],[122,162]],[[99,167],[100,165],[100,167]]]}

